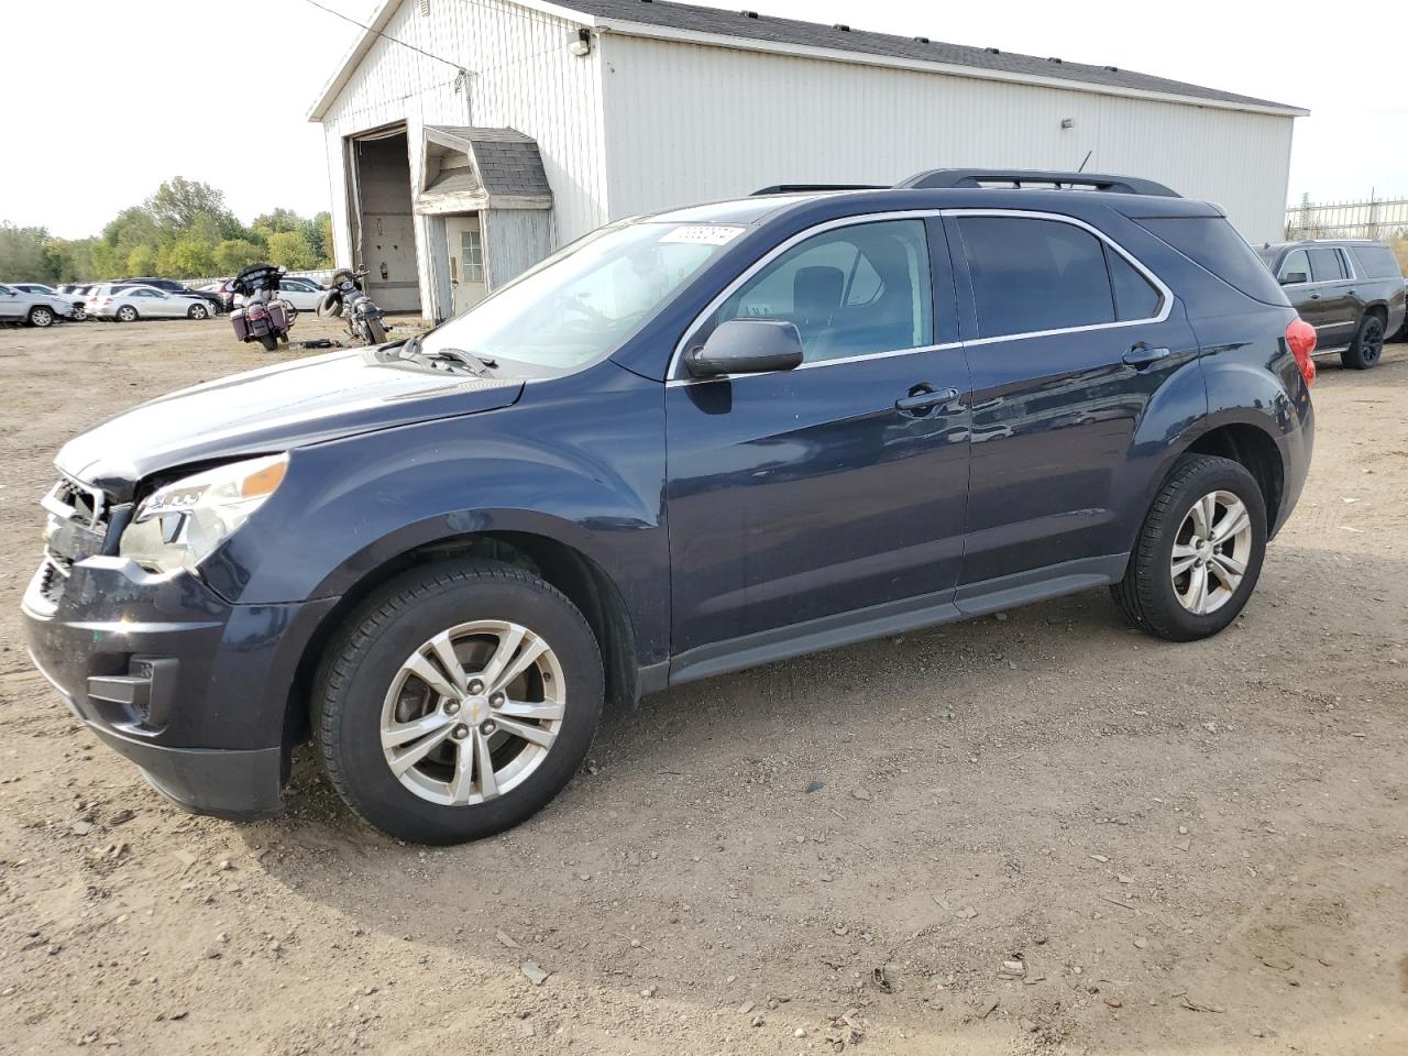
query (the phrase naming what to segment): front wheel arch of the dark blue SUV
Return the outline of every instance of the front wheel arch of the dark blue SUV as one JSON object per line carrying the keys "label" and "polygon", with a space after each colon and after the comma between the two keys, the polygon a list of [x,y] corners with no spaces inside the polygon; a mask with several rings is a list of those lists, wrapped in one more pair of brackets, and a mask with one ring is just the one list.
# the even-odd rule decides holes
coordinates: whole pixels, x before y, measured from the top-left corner
{"label": "front wheel arch of the dark blue SUV", "polygon": [[607,703],[634,705],[643,691],[635,625],[615,582],[600,563],[559,538],[531,531],[487,529],[422,541],[363,572],[322,617],[294,669],[284,711],[284,753],[304,741],[313,683],[328,643],[376,590],[403,572],[439,560],[479,558],[527,569],[566,594],[586,618],[601,650]]}

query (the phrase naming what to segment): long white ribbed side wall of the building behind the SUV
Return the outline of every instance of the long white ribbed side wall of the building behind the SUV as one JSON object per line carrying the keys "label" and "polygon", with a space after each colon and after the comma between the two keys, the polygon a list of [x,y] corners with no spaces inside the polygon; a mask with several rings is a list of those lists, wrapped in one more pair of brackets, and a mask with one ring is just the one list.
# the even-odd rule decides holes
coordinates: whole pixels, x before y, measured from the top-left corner
{"label": "long white ribbed side wall of the building behind the SUV", "polygon": [[614,34],[600,52],[612,218],[773,183],[1077,169],[1090,152],[1090,172],[1217,201],[1247,239],[1281,231],[1291,117]]}

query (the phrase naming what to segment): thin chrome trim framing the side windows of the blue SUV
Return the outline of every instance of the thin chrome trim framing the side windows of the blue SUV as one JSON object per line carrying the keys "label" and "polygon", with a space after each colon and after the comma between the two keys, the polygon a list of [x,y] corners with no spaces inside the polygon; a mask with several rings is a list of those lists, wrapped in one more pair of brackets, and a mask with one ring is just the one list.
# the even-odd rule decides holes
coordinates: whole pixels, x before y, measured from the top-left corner
{"label": "thin chrome trim framing the side windows of the blue SUV", "polygon": [[[891,213],[866,213],[866,214],[853,215],[853,217],[839,217],[836,220],[828,220],[828,221],[824,221],[821,224],[815,224],[815,225],[812,225],[812,227],[810,227],[810,228],[807,228],[804,231],[798,231],[791,238],[788,238],[788,239],[780,242],[779,245],[773,246],[762,258],[759,258],[758,260],[755,260],[752,265],[749,265],[746,269],[743,269],[738,276],[735,276],[734,280],[729,282],[728,286],[725,286],[718,293],[718,296],[715,296],[704,307],[703,311],[700,311],[693,320],[690,320],[690,325],[684,328],[683,337],[680,337],[680,339],[676,342],[674,352],[670,355],[670,365],[669,365],[669,369],[665,373],[665,383],[666,383],[666,386],[674,387],[674,386],[683,386],[683,384],[704,384],[707,382],[734,380],[734,379],[742,379],[742,377],[759,377],[759,376],[763,376],[763,375],[717,375],[714,377],[689,377],[687,375],[680,376],[680,359],[684,355],[684,348],[689,344],[689,339],[696,334],[696,331],[698,331],[698,328],[703,325],[704,320],[707,320],[710,315],[712,315],[715,311],[718,311],[719,306],[722,306],[724,301],[727,301],[731,296],[734,296],[734,293],[743,283],[746,283],[758,272],[760,272],[763,268],[766,268],[767,265],[770,265],[776,258],[779,258],[783,253],[786,253],[788,249],[791,249],[798,242],[804,242],[808,238],[812,238],[814,235],[819,235],[819,234],[824,234],[826,231],[832,231],[832,230],[841,228],[841,227],[855,227],[857,224],[877,224],[877,222],[883,222],[883,221],[888,221],[888,220],[925,220],[928,217],[953,217],[955,220],[960,220],[963,217],[1014,217],[1014,218],[1018,218],[1018,220],[1052,220],[1052,221],[1056,221],[1056,222],[1060,222],[1060,224],[1070,224],[1071,227],[1077,227],[1077,228],[1080,228],[1083,231],[1090,232],[1091,235],[1094,235],[1095,238],[1098,238],[1101,242],[1104,242],[1105,245],[1108,245],[1111,249],[1114,249],[1117,253],[1119,253],[1125,259],[1126,263],[1129,263],[1136,272],[1139,272],[1139,275],[1142,275],[1145,277],[1145,280],[1148,280],[1149,284],[1153,286],[1155,290],[1157,290],[1157,293],[1159,293],[1159,311],[1156,314],[1153,314],[1153,315],[1146,315],[1146,317],[1138,318],[1138,320],[1117,320],[1114,322],[1091,322],[1091,324],[1083,325],[1083,327],[1062,327],[1062,328],[1057,328],[1057,329],[1024,331],[1021,334],[1002,334],[1001,337],[993,337],[993,338],[974,337],[974,338],[970,338],[967,341],[949,341],[949,342],[939,344],[939,345],[925,345],[922,348],[901,348],[901,349],[890,349],[890,351],[886,351],[886,352],[865,352],[865,353],[855,355],[855,356],[842,356],[839,359],[818,359],[818,360],[811,362],[811,363],[801,363],[800,366],[794,367],[794,370],[808,370],[808,369],[815,369],[815,367],[822,367],[822,366],[839,366],[842,363],[856,363],[856,362],[860,362],[863,359],[881,359],[881,358],[888,358],[888,356],[903,356],[903,355],[911,355],[911,353],[918,353],[918,352],[939,352],[939,351],[943,351],[943,349],[967,348],[967,346],[973,346],[973,345],[991,345],[991,344],[998,342],[998,341],[1022,341],[1022,339],[1026,339],[1026,338],[1045,338],[1045,337],[1053,337],[1053,335],[1057,335],[1057,334],[1083,334],[1083,332],[1095,331],[1095,329],[1119,329],[1119,328],[1125,328],[1125,327],[1143,327],[1143,325],[1148,325],[1150,322],[1163,322],[1173,313],[1173,290],[1170,290],[1169,286],[1157,275],[1155,275],[1153,270],[1150,270],[1149,268],[1146,268],[1143,265],[1143,262],[1139,260],[1139,258],[1136,258],[1133,253],[1131,253],[1128,249],[1125,249],[1122,245],[1119,245],[1119,242],[1117,242],[1114,238],[1111,238],[1110,235],[1107,235],[1100,228],[1097,228],[1097,227],[1094,227],[1091,224],[1087,224],[1084,220],[1080,220],[1077,217],[1069,217],[1069,215],[1066,215],[1063,213],[1043,213],[1041,210],[979,208],[979,207],[976,207],[976,208],[921,208],[921,210],[897,210],[897,211],[891,211]],[[931,268],[932,268],[932,260],[931,260]],[[766,373],[772,375],[772,373],[793,373],[793,372],[769,370]]]}

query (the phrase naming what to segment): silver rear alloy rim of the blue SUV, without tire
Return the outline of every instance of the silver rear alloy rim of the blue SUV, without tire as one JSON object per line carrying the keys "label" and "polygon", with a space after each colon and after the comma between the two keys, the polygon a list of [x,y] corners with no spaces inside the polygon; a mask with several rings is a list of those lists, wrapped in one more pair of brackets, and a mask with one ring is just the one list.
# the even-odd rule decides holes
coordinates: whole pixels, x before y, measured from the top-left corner
{"label": "silver rear alloy rim of the blue SUV, without tire", "polygon": [[1231,491],[1209,491],[1184,514],[1173,541],[1173,593],[1194,615],[1222,608],[1252,559],[1252,515]]}

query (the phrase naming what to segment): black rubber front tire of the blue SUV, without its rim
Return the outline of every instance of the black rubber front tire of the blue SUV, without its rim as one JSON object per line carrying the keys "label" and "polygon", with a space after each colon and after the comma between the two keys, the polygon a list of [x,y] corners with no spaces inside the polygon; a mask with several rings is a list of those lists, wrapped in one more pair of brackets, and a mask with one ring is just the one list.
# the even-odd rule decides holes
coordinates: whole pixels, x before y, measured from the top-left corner
{"label": "black rubber front tire of the blue SUV, without its rim", "polygon": [[[413,583],[424,582],[424,573]],[[339,791],[373,826],[422,843],[458,843],[511,828],[546,805],[576,773],[601,719],[603,673],[596,641],[582,614],[560,594],[529,576],[467,576],[438,583],[413,604],[394,597],[406,582],[377,596],[367,622],[334,645],[318,680],[315,728],[320,750],[334,756]],[[387,611],[389,596],[393,615]],[[382,708],[391,679],[406,659],[441,631],[474,620],[510,620],[552,646],[567,683],[562,727],[538,769],[511,791],[473,807],[442,807],[415,796],[391,773],[380,742]],[[341,689],[328,665],[341,667]],[[337,781],[335,781],[337,783]]]}

